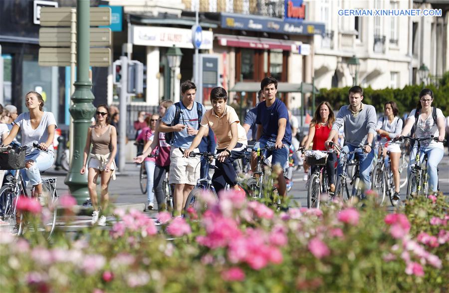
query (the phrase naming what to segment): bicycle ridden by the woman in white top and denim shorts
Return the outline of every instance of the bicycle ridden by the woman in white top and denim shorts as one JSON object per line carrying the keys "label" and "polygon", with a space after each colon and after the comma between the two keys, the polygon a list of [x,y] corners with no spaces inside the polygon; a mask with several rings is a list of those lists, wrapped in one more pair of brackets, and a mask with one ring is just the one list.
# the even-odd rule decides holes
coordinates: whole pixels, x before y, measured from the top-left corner
{"label": "bicycle ridden by the woman in white top and denim shorts", "polygon": [[393,199],[395,194],[395,183],[393,181],[393,171],[391,171],[391,159],[390,151],[387,151],[388,166],[385,164],[384,149],[385,143],[378,144],[379,157],[377,163],[374,166],[371,176],[371,189],[377,193],[377,203],[382,205],[385,200],[385,196],[388,194],[392,206],[397,206],[400,200]]}

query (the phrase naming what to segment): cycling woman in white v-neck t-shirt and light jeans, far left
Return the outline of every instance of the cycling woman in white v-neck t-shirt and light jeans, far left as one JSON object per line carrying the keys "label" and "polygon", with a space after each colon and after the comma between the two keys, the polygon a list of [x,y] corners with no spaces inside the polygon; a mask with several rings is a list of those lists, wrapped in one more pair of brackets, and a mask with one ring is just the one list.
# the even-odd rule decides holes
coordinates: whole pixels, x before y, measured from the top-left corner
{"label": "cycling woman in white v-neck t-shirt and light jeans, far left", "polygon": [[3,140],[3,145],[10,144],[19,130],[22,134],[22,145],[32,147],[36,142],[39,145],[39,148],[26,150],[22,176],[25,182],[29,181],[34,186],[32,196],[37,197],[43,206],[46,199],[42,193],[40,172],[50,168],[54,162],[53,138],[56,120],[53,113],[42,110],[44,100],[38,92],[30,91],[25,95],[25,106],[28,112],[20,114],[15,119],[9,135]]}

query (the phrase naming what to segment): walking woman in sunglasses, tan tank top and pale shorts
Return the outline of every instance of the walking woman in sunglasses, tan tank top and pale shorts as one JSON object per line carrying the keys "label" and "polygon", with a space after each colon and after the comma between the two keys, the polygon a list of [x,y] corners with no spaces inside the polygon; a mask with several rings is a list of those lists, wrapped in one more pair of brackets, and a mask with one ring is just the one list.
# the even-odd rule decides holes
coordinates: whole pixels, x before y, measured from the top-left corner
{"label": "walking woman in sunglasses, tan tank top and pale shorts", "polygon": [[[111,180],[115,180],[115,161],[117,152],[117,130],[109,124],[109,108],[107,105],[99,105],[95,112],[95,125],[90,126],[87,131],[86,146],[84,147],[84,161],[80,173],[86,173],[87,157],[87,188],[92,202],[94,212],[92,214],[92,225],[97,223],[99,226],[106,225],[106,216],[101,215],[100,211],[106,210],[109,202],[108,186]],[[92,151],[90,145],[92,144]],[[97,178],[101,177],[101,208],[98,207],[97,200]]]}

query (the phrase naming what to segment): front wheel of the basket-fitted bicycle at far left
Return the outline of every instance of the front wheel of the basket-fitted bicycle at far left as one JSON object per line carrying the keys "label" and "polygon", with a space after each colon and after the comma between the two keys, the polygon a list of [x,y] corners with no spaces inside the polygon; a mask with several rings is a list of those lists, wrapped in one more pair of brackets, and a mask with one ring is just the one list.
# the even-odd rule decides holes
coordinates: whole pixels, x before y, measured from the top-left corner
{"label": "front wheel of the basket-fitted bicycle at far left", "polygon": [[5,185],[0,189],[0,225],[1,231],[7,231],[16,236],[22,232],[23,215],[16,214],[17,197],[14,193],[14,187]]}

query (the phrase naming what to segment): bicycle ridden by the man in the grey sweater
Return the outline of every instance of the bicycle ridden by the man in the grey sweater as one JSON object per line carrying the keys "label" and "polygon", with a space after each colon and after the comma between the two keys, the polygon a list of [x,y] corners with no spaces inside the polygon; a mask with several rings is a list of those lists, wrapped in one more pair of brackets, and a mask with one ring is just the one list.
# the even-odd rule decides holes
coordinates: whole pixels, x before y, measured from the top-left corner
{"label": "bicycle ridden by the man in the grey sweater", "polygon": [[[329,142],[329,146],[335,146],[336,149],[340,152],[340,161],[343,162],[343,168],[342,173],[338,175],[337,182],[335,185],[335,193],[334,197],[341,198],[342,200],[354,200],[355,197],[358,197],[359,199],[362,198],[362,184],[360,182],[360,174],[359,174],[359,159],[357,156],[354,156],[354,159],[350,160],[348,162],[348,156],[354,155],[357,153],[357,151],[361,150],[362,148],[356,148],[352,152],[346,152],[344,151],[338,144],[335,144],[333,142]],[[346,178],[348,176],[346,168],[349,166],[354,166],[354,172],[351,177],[351,182],[349,183],[352,185],[352,192],[351,196],[349,196],[349,189],[346,182]],[[346,198],[344,197],[346,192]]]}

